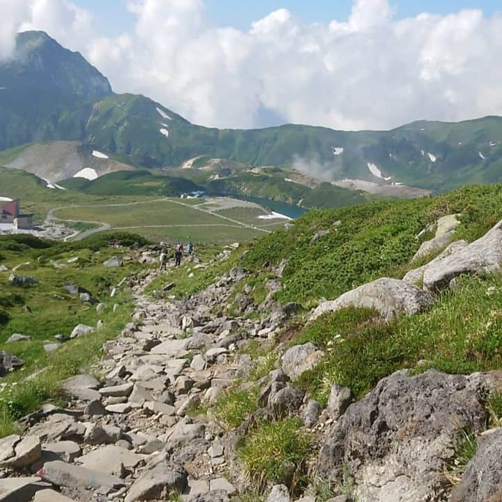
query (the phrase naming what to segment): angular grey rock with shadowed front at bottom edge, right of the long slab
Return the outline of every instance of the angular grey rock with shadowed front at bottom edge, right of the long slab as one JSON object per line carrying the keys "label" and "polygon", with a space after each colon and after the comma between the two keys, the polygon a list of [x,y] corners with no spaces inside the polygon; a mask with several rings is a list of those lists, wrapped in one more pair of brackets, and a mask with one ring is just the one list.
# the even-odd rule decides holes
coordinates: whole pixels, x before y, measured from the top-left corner
{"label": "angular grey rock with shadowed front at bottom edge, right of the long slab", "polygon": [[186,485],[187,473],[182,467],[174,466],[164,472],[146,471],[130,487],[124,502],[165,500],[173,492],[183,492]]}

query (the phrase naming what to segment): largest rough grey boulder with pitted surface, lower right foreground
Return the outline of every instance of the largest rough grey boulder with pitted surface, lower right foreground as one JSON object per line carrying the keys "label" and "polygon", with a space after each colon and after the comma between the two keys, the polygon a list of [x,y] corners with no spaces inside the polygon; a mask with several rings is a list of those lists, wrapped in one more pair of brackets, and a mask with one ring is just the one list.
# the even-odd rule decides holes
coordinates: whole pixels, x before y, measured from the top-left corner
{"label": "largest rough grey boulder with pitted surface, lower right foreground", "polygon": [[319,473],[341,479],[349,469],[360,500],[443,500],[450,490],[444,464],[454,455],[459,430],[485,428],[485,396],[501,386],[502,372],[396,372],[351,404],[326,433]]}

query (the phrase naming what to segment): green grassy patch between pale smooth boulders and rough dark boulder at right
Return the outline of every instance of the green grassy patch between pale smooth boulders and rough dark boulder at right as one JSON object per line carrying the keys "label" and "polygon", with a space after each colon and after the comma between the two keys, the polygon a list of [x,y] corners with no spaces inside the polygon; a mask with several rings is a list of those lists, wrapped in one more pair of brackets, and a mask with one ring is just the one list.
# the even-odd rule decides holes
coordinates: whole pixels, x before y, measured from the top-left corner
{"label": "green grassy patch between pale smooth boulders and rough dark boulder at right", "polygon": [[488,275],[464,277],[455,291],[440,294],[428,312],[388,324],[362,310],[326,314],[295,340],[312,341],[326,351],[299,384],[326,402],[333,383],[363,397],[380,379],[402,368],[434,367],[452,374],[499,369],[501,302],[502,277]]}

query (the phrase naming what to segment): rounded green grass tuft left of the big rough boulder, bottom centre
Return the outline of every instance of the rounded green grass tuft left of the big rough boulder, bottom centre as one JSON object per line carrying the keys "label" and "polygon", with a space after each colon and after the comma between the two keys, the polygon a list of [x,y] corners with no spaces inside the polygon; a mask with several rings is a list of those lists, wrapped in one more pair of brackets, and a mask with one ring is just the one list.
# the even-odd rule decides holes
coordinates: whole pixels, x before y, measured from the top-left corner
{"label": "rounded green grass tuft left of the big rough boulder, bottom centre", "polygon": [[267,482],[283,483],[293,492],[305,480],[310,441],[296,418],[261,421],[243,439],[238,457],[258,489],[263,489]]}

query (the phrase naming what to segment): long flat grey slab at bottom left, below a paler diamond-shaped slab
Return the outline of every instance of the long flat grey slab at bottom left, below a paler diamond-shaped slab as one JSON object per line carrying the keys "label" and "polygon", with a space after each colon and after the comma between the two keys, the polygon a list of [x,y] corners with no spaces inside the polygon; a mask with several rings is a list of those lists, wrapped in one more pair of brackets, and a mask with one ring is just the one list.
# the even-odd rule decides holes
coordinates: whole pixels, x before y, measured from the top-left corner
{"label": "long flat grey slab at bottom left, below a paler diamond-shaped slab", "polygon": [[119,489],[125,486],[123,481],[116,476],[75,464],[66,464],[60,460],[47,462],[38,471],[38,476],[58,487],[66,487],[71,492],[85,492],[89,488]]}

